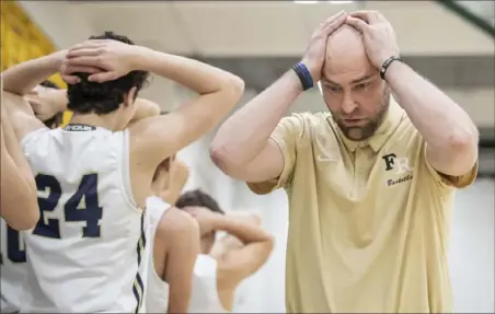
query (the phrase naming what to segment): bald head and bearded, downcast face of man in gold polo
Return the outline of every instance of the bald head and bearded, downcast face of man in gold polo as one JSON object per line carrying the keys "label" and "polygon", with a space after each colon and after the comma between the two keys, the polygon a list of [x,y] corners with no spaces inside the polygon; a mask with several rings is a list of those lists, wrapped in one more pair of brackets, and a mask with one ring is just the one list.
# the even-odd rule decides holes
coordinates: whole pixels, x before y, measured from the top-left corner
{"label": "bald head and bearded, downcast face of man in gold polo", "polygon": [[332,119],[347,138],[365,140],[383,121],[390,92],[353,26],[344,24],[330,35],[321,85]]}

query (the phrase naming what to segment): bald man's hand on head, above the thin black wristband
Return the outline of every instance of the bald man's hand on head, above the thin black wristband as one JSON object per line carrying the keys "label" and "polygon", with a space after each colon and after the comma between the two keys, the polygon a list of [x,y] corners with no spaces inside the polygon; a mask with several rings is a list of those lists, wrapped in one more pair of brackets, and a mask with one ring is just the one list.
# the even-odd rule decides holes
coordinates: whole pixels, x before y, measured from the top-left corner
{"label": "bald man's hand on head, above the thin black wristband", "polygon": [[399,45],[390,22],[378,11],[349,13],[346,23],[362,34],[366,53],[371,63],[380,69],[390,57],[399,57]]}

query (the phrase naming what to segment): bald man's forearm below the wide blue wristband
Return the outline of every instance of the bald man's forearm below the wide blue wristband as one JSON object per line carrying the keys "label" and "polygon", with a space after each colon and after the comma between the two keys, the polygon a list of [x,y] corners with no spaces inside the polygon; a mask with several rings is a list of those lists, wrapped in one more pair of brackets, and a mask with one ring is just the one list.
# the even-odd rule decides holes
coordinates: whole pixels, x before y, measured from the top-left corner
{"label": "bald man's forearm below the wide blue wristband", "polygon": [[220,126],[211,142],[211,155],[225,163],[248,164],[262,151],[301,93],[302,85],[296,72],[285,73]]}

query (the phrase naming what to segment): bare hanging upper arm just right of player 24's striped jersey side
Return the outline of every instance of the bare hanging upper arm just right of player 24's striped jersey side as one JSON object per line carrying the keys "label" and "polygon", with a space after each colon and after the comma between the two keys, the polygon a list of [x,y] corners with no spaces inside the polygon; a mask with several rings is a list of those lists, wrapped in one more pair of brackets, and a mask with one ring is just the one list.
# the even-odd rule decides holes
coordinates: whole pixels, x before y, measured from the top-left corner
{"label": "bare hanging upper arm just right of player 24's striped jersey side", "polygon": [[193,269],[199,254],[199,230],[196,221],[176,208],[170,208],[160,220],[160,243],[166,243],[165,276],[170,286],[168,313],[187,313]]}

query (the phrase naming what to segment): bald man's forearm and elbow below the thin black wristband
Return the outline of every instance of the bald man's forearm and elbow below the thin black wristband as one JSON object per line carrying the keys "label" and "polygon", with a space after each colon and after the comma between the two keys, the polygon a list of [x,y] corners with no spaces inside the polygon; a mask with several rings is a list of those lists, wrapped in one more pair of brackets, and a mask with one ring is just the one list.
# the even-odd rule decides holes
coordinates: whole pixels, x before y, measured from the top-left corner
{"label": "bald man's forearm and elbow below the thin black wristband", "polygon": [[391,63],[385,79],[425,139],[431,166],[447,177],[472,172],[477,163],[479,131],[462,107],[405,63]]}

